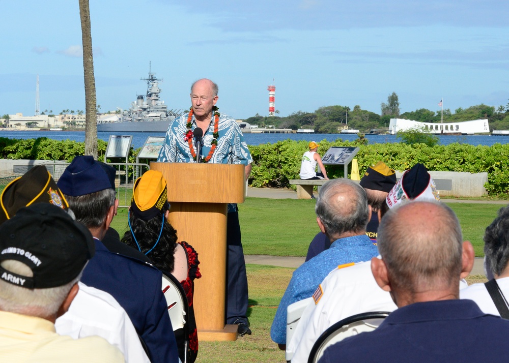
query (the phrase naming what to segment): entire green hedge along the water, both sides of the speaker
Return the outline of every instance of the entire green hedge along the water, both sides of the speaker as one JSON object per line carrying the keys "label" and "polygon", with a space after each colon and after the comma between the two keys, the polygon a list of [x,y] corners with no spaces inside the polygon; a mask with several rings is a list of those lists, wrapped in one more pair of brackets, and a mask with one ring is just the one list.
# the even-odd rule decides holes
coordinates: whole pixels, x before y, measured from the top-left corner
{"label": "entire green hedge along the water, both sides of the speaker", "polygon": [[[104,157],[106,141],[98,140],[99,158]],[[385,143],[365,145],[363,140],[322,140],[318,152],[324,155],[331,146],[360,146],[356,159],[360,175],[367,167],[379,160],[390,168],[406,170],[419,162],[429,170],[488,172],[485,185],[490,196],[509,195],[509,145],[473,146],[453,143],[449,145],[407,145]],[[253,168],[249,184],[253,187],[290,188],[290,179],[299,177],[302,155],[307,150],[307,141],[285,140],[274,144],[249,146],[253,157]],[[130,151],[129,161],[134,162],[138,149]],[[84,144],[72,140],[57,141],[45,137],[16,140],[0,137],[1,159],[65,160],[83,155]],[[343,167],[326,166],[330,178],[343,177]],[[294,187],[295,188],[295,187]]]}

